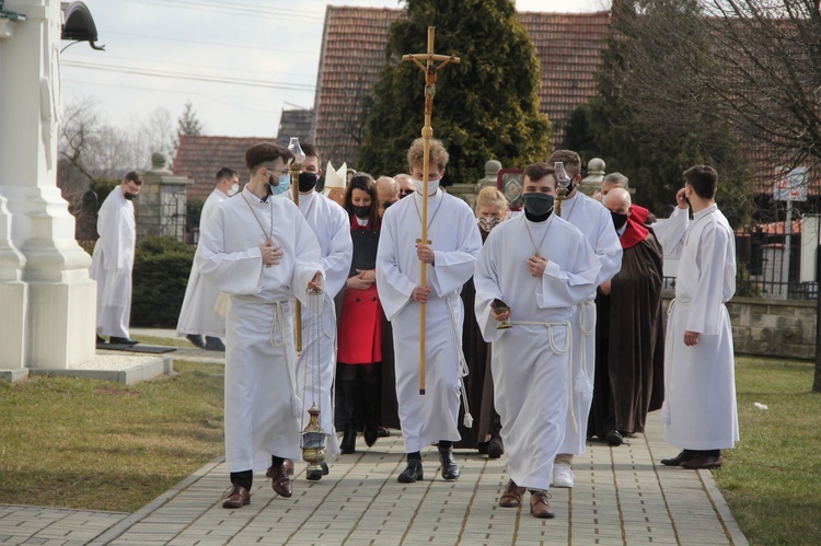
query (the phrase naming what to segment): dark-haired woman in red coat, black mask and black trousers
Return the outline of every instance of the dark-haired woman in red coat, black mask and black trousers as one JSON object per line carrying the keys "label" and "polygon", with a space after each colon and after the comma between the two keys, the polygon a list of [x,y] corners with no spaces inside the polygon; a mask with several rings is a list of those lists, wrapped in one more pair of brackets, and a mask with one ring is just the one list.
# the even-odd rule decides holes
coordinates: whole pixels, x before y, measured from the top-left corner
{"label": "dark-haired woman in red coat, black mask and black trousers", "polygon": [[377,294],[377,246],[382,210],[377,185],[366,173],[357,173],[345,191],[344,208],[350,218],[354,259],[345,284],[338,334],[338,377],[344,431],[340,450],[356,450],[356,399],[361,393],[365,443],[378,438],[380,364],[382,363],[382,305]]}

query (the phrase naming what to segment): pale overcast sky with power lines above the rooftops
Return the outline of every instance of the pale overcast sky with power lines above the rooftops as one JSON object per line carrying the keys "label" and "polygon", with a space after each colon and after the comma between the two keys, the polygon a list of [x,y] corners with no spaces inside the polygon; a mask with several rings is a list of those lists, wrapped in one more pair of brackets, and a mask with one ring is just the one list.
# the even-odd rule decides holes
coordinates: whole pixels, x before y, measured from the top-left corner
{"label": "pale overcast sky with power lines above the rooftops", "polygon": [[[282,108],[311,108],[327,3],[396,0],[84,0],[105,51],[62,54],[63,105],[92,97],[116,126],[187,101],[206,135],[274,137]],[[605,0],[518,0],[519,11],[582,12]],[[65,47],[69,43],[63,43]]]}

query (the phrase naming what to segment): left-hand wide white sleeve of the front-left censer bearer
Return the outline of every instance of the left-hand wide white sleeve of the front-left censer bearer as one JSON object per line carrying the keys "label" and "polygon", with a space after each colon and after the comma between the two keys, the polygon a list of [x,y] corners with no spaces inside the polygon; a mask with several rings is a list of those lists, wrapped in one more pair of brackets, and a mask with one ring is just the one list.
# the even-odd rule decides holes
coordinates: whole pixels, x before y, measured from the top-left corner
{"label": "left-hand wide white sleeve of the front-left censer bearer", "polygon": [[255,295],[262,289],[263,256],[258,246],[241,252],[226,252],[226,216],[220,207],[212,219],[200,226],[199,247],[195,259],[199,271],[220,292]]}

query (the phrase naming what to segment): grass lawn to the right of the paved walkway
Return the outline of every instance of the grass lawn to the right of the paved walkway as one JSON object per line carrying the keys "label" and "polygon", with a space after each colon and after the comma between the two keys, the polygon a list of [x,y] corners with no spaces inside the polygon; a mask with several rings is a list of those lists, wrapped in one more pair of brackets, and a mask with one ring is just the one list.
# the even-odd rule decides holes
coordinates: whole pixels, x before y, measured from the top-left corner
{"label": "grass lawn to the right of the paved walkway", "polygon": [[[821,393],[812,362],[738,357],[741,442],[716,483],[751,544],[821,543]],[[759,409],[754,403],[768,409]]]}

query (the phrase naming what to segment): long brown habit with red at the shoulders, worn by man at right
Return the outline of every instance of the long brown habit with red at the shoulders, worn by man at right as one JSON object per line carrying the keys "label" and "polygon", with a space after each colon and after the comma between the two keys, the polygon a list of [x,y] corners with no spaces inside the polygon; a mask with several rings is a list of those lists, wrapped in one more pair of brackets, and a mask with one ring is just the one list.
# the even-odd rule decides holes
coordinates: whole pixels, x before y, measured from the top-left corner
{"label": "long brown habit with red at the shoulders, worn by man at right", "polygon": [[[588,435],[644,432],[647,413],[664,399],[662,251],[652,233],[627,222],[622,269],[611,293],[597,297],[595,388]],[[627,246],[631,245],[631,246]]]}

